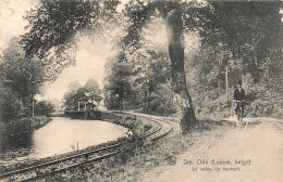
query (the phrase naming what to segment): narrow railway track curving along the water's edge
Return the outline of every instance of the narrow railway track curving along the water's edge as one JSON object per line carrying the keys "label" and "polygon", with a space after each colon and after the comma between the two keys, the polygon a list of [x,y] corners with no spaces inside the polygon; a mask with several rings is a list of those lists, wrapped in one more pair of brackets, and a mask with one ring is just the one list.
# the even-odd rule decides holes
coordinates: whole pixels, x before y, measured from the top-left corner
{"label": "narrow railway track curving along the water's edge", "polygon": [[[126,113],[125,115],[131,114]],[[52,176],[54,173],[60,173],[62,171],[76,168],[88,162],[101,161],[119,153],[123,153],[130,144],[133,145],[133,142],[136,145],[140,143],[151,144],[152,142],[156,142],[159,139],[164,138],[173,130],[173,127],[169,121],[152,118],[146,119],[153,122],[155,127],[145,134],[137,136],[136,139],[130,139],[98,150],[88,151],[71,155],[64,158],[42,162],[39,165],[34,165],[30,167],[9,171],[0,174],[0,181],[36,181],[39,179],[44,179],[45,177]]]}

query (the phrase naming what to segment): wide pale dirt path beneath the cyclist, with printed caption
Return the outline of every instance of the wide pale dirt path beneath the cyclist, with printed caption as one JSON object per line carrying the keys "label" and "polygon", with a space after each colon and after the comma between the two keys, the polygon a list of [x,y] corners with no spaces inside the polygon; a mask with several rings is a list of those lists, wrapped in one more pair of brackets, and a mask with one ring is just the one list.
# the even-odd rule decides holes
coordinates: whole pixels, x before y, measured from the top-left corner
{"label": "wide pale dirt path beneath the cyclist, with printed caption", "polygon": [[283,181],[283,122],[269,118],[246,121],[242,130],[219,131],[193,145],[176,157],[176,165],[156,167],[142,181]]}

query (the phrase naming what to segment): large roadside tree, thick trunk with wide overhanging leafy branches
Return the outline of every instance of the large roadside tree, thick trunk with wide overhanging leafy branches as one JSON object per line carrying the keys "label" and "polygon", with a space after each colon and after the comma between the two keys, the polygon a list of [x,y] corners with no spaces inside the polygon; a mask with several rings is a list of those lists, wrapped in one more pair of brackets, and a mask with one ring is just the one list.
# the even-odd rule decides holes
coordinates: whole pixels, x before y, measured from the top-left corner
{"label": "large roadside tree, thick trunk with wide overhanging leafy branches", "polygon": [[[53,65],[52,72],[60,73],[62,67],[72,64],[70,62],[72,58],[64,56],[72,54],[67,51],[76,49],[77,36],[85,36],[86,32],[99,35],[98,31],[109,28],[109,22],[113,23],[112,25],[118,25],[114,24],[118,22],[128,22],[125,23],[128,25],[126,35],[122,34],[123,37],[119,41],[122,49],[121,55],[127,56],[126,54],[133,54],[142,48],[143,27],[151,18],[162,17],[168,29],[171,84],[183,105],[181,125],[184,131],[196,119],[184,68],[186,31],[198,32],[202,46],[211,47],[216,53],[218,51],[232,53],[232,57],[227,54],[225,58],[222,58],[222,63],[216,69],[219,73],[229,64],[229,60],[239,60],[243,73],[251,74],[254,82],[257,83],[267,67],[275,67],[271,66],[272,64],[264,65],[264,62],[270,60],[271,63],[282,64],[279,61],[282,60],[282,42],[280,41],[282,40],[282,23],[279,13],[282,6],[281,1],[262,3],[254,1],[201,3],[148,1],[145,3],[132,0],[126,4],[123,16],[115,11],[118,4],[119,1],[99,3],[97,1],[41,0],[37,10],[30,11],[27,15],[30,31],[23,37],[22,41],[27,55],[47,56],[47,64]],[[269,74],[272,75],[271,72]],[[214,74],[214,76],[220,78],[211,82],[219,84],[222,79],[221,75]],[[280,82],[280,79],[276,82]]]}

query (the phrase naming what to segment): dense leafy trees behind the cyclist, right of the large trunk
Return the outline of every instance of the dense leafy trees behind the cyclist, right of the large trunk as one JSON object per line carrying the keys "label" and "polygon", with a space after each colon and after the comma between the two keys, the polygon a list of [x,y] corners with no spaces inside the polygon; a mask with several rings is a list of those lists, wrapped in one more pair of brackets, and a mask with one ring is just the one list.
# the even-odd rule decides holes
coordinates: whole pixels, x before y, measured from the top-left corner
{"label": "dense leafy trees behind the cyclist, right of the large trunk", "polygon": [[279,96],[282,94],[280,9],[280,1],[209,1],[208,5],[193,12],[195,18],[190,18],[190,22],[187,20],[186,24],[197,20],[195,24],[198,25],[196,27],[202,38],[202,47],[199,55],[189,63],[197,74],[192,72],[187,75],[198,110],[220,113],[226,107],[221,96],[224,94],[222,72],[225,66],[229,67],[230,91],[233,92],[238,79],[244,82],[246,99],[250,103],[247,106],[248,114],[256,116],[264,113],[256,110],[270,108],[267,103],[279,105],[278,101],[282,101]]}

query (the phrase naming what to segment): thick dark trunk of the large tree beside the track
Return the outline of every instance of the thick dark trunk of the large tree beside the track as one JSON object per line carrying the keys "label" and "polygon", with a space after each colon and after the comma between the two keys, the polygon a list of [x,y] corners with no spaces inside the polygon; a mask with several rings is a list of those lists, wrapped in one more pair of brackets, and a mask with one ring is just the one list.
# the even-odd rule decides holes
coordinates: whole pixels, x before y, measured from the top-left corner
{"label": "thick dark trunk of the large tree beside the track", "polygon": [[184,35],[182,14],[177,9],[168,13],[167,30],[169,42],[169,55],[172,64],[172,88],[182,104],[181,127],[185,133],[195,123],[196,116],[192,98],[188,94],[184,72]]}

